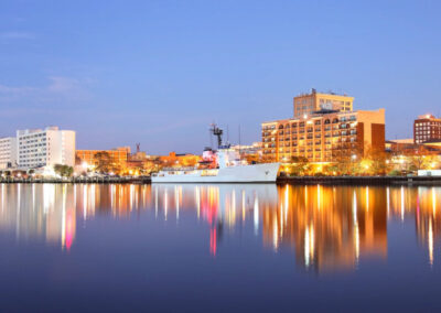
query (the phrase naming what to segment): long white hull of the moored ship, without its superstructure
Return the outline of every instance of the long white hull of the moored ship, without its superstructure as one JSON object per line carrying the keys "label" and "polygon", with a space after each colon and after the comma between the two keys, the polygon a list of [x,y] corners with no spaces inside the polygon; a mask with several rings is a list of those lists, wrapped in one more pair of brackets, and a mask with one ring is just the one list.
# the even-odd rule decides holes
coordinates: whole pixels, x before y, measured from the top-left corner
{"label": "long white hull of the moored ship, without its superstructure", "polygon": [[161,171],[152,183],[271,183],[276,182],[279,163],[237,165],[216,170]]}

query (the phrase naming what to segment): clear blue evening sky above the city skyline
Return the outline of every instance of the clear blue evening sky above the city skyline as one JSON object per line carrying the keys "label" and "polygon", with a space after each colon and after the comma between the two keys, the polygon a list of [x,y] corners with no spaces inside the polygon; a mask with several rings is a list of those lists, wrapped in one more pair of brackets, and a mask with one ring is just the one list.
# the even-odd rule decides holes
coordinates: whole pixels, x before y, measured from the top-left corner
{"label": "clear blue evening sky above the city skyline", "polygon": [[316,88],[386,109],[388,139],[441,116],[441,1],[0,1],[0,137],[200,153],[293,115]]}

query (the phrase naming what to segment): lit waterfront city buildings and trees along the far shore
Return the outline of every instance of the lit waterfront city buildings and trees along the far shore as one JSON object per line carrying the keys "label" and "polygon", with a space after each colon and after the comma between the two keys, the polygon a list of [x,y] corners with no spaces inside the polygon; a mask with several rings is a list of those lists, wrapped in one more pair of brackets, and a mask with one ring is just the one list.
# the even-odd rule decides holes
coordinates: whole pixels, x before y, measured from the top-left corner
{"label": "lit waterfront city buildings and trees along the far shore", "polygon": [[[420,115],[408,126],[413,138],[387,140],[385,109],[356,110],[353,101],[312,89],[293,98],[292,118],[261,123],[261,141],[230,149],[247,163],[280,162],[283,176],[441,175],[441,118]],[[75,134],[46,127],[1,138],[2,179],[149,176],[205,161],[202,151],[151,155],[140,144],[133,153],[130,145],[76,149]]]}

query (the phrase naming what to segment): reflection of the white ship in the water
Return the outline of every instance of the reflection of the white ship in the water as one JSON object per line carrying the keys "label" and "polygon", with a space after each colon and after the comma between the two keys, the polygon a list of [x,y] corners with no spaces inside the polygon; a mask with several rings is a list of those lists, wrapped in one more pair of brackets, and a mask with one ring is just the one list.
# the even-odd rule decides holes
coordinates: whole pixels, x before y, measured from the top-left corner
{"label": "reflection of the white ship in the water", "polygon": [[[195,208],[197,218],[209,226],[209,252],[216,256],[225,235],[244,226],[247,217],[259,230],[260,208],[277,205],[276,184],[159,184],[152,186],[154,207],[168,215]],[[184,201],[183,201],[184,199]],[[173,212],[175,211],[175,212]]]}

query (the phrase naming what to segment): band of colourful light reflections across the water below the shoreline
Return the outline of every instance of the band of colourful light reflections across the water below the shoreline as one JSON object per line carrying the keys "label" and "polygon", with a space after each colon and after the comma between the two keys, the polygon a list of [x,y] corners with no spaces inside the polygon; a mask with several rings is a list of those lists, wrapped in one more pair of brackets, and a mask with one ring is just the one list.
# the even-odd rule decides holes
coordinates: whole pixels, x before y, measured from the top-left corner
{"label": "band of colourful light reflections across the water below the shoreline", "polygon": [[1,184],[0,194],[2,233],[65,250],[82,231],[78,224],[143,213],[166,223],[183,215],[204,222],[212,256],[222,252],[224,236],[235,238],[240,229],[266,249],[294,251],[297,266],[313,271],[386,259],[390,223],[415,225],[430,266],[440,241],[440,187]]}

